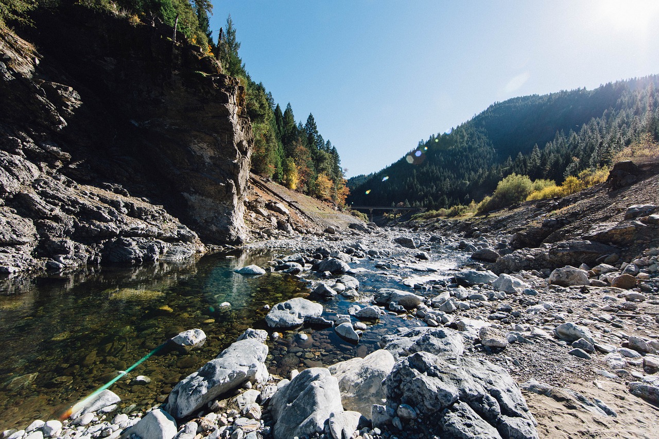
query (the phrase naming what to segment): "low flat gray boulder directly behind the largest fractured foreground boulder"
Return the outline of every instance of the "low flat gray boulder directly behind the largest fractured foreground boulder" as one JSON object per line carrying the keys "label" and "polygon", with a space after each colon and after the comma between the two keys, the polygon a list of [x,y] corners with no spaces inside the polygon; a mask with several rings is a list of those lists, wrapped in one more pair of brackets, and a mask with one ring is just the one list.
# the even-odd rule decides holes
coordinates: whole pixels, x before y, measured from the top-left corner
{"label": "low flat gray boulder directly behind the largest fractured foreground boulder", "polygon": [[384,336],[380,346],[398,360],[416,352],[439,354],[443,352],[462,355],[465,343],[461,334],[449,328],[411,328],[399,334]]}

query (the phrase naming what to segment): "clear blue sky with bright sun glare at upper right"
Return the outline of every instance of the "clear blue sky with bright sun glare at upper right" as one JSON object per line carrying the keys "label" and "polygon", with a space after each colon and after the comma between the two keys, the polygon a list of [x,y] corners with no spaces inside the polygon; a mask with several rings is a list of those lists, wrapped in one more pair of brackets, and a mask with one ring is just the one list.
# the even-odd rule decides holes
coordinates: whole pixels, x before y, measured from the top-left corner
{"label": "clear blue sky with bright sun glare at upper right", "polygon": [[[659,74],[659,1],[214,0],[239,55],[347,176],[515,96]],[[217,32],[214,33],[217,38]]]}

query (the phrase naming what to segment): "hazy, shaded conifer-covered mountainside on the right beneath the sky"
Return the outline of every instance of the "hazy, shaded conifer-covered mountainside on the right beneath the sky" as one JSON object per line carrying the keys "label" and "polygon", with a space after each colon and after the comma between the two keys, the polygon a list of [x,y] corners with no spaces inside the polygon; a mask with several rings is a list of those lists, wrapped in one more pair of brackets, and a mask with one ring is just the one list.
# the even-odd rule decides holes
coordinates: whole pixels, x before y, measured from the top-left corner
{"label": "hazy, shaded conifer-covered mountainside on the right beneath the sky", "polygon": [[561,183],[609,165],[644,133],[659,139],[658,86],[654,75],[494,103],[382,171],[353,177],[349,203],[447,208],[480,201],[512,173]]}

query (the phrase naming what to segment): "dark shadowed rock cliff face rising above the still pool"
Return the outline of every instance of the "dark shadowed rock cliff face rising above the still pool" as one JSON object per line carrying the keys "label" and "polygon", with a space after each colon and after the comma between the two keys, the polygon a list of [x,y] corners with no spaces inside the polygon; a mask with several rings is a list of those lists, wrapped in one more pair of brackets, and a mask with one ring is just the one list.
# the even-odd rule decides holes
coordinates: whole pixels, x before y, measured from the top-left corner
{"label": "dark shadowed rock cliff face rising above the still pool", "polygon": [[242,242],[252,134],[237,80],[166,26],[82,8],[34,21],[24,39],[0,34],[0,270]]}

